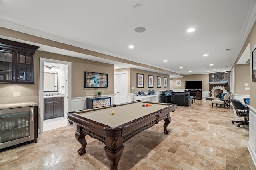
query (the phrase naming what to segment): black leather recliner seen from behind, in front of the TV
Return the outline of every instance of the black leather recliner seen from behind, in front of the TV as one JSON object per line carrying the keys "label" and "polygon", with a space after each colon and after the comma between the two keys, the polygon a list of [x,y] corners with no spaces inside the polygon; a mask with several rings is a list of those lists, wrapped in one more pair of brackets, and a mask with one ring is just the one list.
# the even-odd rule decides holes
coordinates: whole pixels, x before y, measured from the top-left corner
{"label": "black leather recliner seen from behind, in front of the TV", "polygon": [[177,106],[190,106],[193,100],[193,96],[190,96],[189,92],[172,92],[170,98],[171,103],[175,103]]}

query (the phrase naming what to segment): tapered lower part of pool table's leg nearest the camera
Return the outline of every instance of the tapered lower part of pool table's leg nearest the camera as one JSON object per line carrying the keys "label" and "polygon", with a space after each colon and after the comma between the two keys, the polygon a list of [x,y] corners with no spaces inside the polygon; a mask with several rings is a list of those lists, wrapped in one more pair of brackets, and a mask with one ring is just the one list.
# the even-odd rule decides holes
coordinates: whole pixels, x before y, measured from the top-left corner
{"label": "tapered lower part of pool table's leg nearest the camera", "polygon": [[122,156],[124,145],[119,147],[118,149],[110,149],[109,147],[104,147],[106,156],[110,162],[110,170],[117,170],[118,162]]}

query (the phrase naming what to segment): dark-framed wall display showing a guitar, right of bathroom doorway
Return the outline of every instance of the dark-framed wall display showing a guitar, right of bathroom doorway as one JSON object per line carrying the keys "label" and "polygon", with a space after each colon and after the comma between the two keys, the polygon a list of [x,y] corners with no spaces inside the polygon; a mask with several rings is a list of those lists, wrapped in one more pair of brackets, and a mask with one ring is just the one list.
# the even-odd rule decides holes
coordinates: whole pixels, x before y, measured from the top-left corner
{"label": "dark-framed wall display showing a guitar, right of bathroom doorway", "polygon": [[84,87],[108,87],[108,74],[85,71]]}

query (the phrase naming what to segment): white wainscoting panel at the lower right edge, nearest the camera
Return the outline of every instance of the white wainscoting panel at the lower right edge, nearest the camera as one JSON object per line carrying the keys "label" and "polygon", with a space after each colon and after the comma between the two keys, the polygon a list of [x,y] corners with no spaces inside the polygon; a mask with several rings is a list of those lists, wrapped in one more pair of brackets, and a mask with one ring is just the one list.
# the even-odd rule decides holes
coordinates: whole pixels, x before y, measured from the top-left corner
{"label": "white wainscoting panel at the lower right edge, nearest the camera", "polygon": [[250,125],[249,125],[249,142],[248,142],[248,150],[252,156],[252,160],[254,165],[256,166],[256,109],[250,107]]}

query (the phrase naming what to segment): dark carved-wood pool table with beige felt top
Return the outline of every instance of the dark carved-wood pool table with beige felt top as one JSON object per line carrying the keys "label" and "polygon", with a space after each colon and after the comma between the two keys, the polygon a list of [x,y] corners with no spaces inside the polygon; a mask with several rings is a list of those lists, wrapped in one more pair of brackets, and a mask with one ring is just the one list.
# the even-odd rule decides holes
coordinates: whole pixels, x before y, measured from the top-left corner
{"label": "dark carved-wood pool table with beige felt top", "polygon": [[[152,127],[164,119],[164,133],[171,122],[170,112],[176,110],[176,104],[146,102],[152,106],[143,107],[143,101],[134,101],[95,109],[73,111],[68,113],[71,123],[76,123],[76,140],[81,144],[77,151],[86,152],[85,136],[102,141],[111,170],[117,170],[118,162],[124,150],[123,143],[136,134]],[[114,111],[114,115],[111,112]]]}

